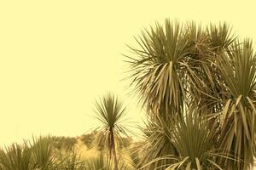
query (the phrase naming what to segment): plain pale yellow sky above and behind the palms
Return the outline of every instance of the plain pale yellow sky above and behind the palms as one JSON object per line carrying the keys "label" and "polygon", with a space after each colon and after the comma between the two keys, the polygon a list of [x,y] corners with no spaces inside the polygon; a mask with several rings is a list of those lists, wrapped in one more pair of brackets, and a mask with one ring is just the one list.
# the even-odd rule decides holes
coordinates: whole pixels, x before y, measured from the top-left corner
{"label": "plain pale yellow sky above and behind the palms", "polygon": [[94,99],[126,95],[122,54],[154,21],[227,21],[256,40],[253,1],[1,1],[0,145],[32,134],[76,136],[96,127]]}

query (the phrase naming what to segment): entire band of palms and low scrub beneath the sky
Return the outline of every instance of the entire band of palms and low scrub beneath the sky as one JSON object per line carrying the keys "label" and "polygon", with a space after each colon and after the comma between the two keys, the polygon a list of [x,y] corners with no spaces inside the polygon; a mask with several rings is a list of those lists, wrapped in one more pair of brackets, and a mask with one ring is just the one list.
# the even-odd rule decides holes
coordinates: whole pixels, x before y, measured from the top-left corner
{"label": "entire band of palms and low scrub beneath the sky", "polygon": [[[133,141],[114,94],[96,100],[95,131],[40,137],[0,150],[1,170],[248,170],[256,153],[256,55],[225,23],[166,20],[125,55],[131,92],[147,114]],[[78,144],[93,150],[83,157]],[[89,152],[86,152],[87,154]]]}

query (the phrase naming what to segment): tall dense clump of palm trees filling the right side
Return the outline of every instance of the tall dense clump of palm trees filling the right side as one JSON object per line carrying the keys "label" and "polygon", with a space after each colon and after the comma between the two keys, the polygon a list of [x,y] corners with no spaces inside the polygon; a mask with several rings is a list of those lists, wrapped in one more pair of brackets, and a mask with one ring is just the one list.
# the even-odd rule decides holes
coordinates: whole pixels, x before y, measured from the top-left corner
{"label": "tall dense clump of palm trees filling the right side", "polygon": [[[203,28],[195,22],[181,25],[170,20],[164,26],[157,23],[145,29],[136,41],[139,48],[129,47],[134,55],[126,56],[131,65],[131,84],[147,109],[150,123],[156,125],[152,133],[147,133],[149,149],[141,160],[151,165],[151,159],[164,167],[166,159],[156,157],[163,156],[168,145],[165,154],[176,156],[176,160],[183,158],[174,164],[175,159],[171,159],[170,169],[186,162],[190,163],[186,169],[207,165],[252,168],[256,156],[256,55],[251,41],[238,41],[225,23]],[[188,113],[194,111],[198,116],[190,116],[188,122]],[[189,128],[193,135],[186,132]],[[205,161],[195,157],[198,153],[189,156],[189,150],[195,148],[188,144],[195,139],[192,146],[200,147],[196,145],[200,138],[208,143],[215,141],[211,147],[201,145],[201,151],[206,152],[201,156],[209,150],[223,149],[222,153]],[[149,150],[153,157],[148,156]]]}

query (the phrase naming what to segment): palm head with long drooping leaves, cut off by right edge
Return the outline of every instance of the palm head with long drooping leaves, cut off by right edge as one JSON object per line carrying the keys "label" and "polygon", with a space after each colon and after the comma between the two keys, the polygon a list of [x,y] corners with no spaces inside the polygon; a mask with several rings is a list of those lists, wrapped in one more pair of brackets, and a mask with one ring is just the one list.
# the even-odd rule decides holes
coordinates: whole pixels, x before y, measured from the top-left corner
{"label": "palm head with long drooping leaves, cut off by right edge", "polygon": [[231,167],[246,169],[253,165],[255,150],[255,78],[256,62],[252,42],[236,42],[219,59],[219,69],[226,88],[221,117],[221,146],[234,158]]}

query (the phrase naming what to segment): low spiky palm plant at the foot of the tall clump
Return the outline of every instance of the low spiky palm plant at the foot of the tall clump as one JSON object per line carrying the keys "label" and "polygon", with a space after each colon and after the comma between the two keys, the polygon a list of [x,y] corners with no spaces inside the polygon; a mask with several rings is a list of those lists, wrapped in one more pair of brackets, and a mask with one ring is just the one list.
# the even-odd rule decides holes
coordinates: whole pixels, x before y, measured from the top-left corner
{"label": "low spiky palm plant at the foot of the tall clump", "polygon": [[183,121],[177,123],[172,133],[169,133],[169,141],[178,153],[170,158],[178,159],[168,168],[224,169],[217,159],[230,159],[230,156],[224,155],[216,144],[216,124],[217,122],[209,122],[205,117],[199,116],[197,111],[190,112]]}

